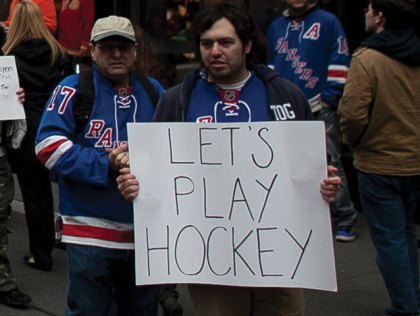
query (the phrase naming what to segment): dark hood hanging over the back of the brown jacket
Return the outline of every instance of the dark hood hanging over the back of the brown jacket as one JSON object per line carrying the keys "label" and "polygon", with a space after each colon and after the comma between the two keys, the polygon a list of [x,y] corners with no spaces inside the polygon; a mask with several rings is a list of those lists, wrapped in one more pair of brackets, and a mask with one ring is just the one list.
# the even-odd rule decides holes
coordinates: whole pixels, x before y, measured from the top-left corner
{"label": "dark hood hanging over the back of the brown jacket", "polygon": [[409,66],[420,66],[420,39],[414,30],[385,30],[368,37],[360,45],[380,51]]}

